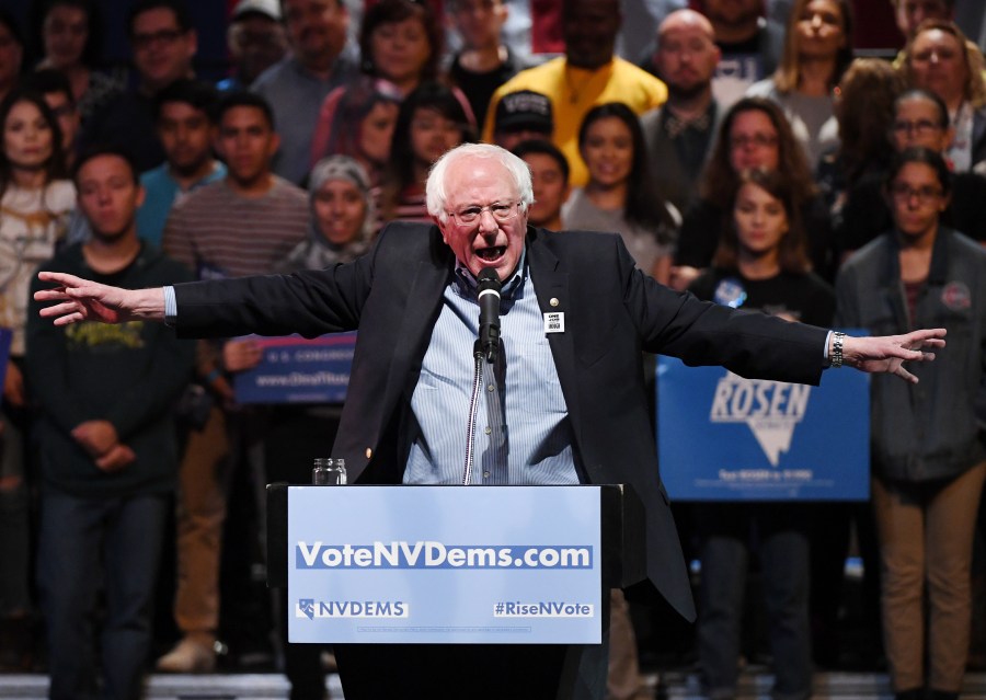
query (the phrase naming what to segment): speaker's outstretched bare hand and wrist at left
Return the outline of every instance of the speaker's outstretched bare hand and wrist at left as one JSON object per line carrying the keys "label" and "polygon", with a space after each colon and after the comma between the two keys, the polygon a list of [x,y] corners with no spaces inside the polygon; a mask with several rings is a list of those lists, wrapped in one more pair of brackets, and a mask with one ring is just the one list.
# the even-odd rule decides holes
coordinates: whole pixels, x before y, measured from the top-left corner
{"label": "speaker's outstretched bare hand and wrist at left", "polygon": [[36,301],[58,302],[41,310],[43,318],[55,319],[55,325],[78,321],[123,323],[137,319],[164,320],[164,290],[161,287],[121,289],[55,272],[38,273],[38,278],[58,285],[34,292]]}

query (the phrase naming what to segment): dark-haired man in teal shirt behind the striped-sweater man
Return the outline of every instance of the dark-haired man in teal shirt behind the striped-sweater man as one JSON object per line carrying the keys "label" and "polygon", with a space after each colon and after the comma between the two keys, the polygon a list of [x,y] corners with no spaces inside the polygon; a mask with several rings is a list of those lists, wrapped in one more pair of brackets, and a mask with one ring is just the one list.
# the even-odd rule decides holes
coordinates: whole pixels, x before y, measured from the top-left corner
{"label": "dark-haired man in teal shirt behind the striped-sweater man", "polygon": [[146,197],[137,213],[140,238],[161,244],[171,207],[186,194],[226,176],[226,165],[213,158],[218,93],[207,82],[179,80],[158,95],[158,138],[165,161],[140,175]]}

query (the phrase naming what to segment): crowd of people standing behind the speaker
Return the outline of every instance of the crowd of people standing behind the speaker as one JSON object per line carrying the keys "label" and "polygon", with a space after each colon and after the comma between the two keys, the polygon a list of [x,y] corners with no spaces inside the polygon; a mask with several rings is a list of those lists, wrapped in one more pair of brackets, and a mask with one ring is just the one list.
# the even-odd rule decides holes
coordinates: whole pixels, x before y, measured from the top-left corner
{"label": "crowd of people standing behind the speaker", "polygon": [[[0,666],[47,659],[51,697],[72,699],[98,678],[136,698],[147,668],[214,669],[233,635],[221,579],[263,560],[230,564],[225,525],[262,518],[259,485],[306,482],[339,416],[239,404],[250,340],[55,329],[36,273],[144,287],[348,262],[390,221],[431,221],[433,163],[482,140],[530,168],[531,226],[619,233],[678,291],[874,334],[949,330],[919,386],[872,381],[871,503],[676,516],[701,563],[708,697],[736,695],[752,554],[773,696],[812,695],[813,666],[837,656],[855,529],[896,697],[958,698],[986,479],[986,61],[950,0],[891,2],[905,43],[886,58],[853,59],[849,0],[792,0],[784,26],[763,0],[696,0],[634,61],[616,53],[619,0],[565,0],[563,51],[538,61],[505,41],[505,0],[378,0],[358,26],[344,0],[240,0],[218,83],[196,76],[183,0],[134,2],[130,70],[100,62],[95,0],[34,0],[30,31],[0,11]],[[174,582],[158,575],[169,541]],[[161,650],[156,586],[174,599]],[[283,601],[254,603],[238,617],[284,642]],[[643,697],[612,604],[610,696]],[[291,697],[322,697],[323,650],[274,646]]]}

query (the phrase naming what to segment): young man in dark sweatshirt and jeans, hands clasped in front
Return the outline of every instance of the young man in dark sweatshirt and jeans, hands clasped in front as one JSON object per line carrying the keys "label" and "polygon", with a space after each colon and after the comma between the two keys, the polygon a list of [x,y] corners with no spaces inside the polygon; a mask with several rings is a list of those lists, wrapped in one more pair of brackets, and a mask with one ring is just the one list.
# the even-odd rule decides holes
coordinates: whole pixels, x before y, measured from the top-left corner
{"label": "young man in dark sweatshirt and jeans, hands clasped in front", "polygon": [[[113,149],[80,157],[79,208],[92,237],[42,265],[124,285],[191,279],[144,244],[144,198],[129,157]],[[150,610],[177,448],[172,408],[192,372],[194,344],[159,324],[107,332],[27,321],[27,371],[41,409],[42,520],[38,592],[48,639],[49,698],[137,698],[150,652]],[[105,589],[105,619],[93,620]],[[93,640],[100,640],[99,653]]]}

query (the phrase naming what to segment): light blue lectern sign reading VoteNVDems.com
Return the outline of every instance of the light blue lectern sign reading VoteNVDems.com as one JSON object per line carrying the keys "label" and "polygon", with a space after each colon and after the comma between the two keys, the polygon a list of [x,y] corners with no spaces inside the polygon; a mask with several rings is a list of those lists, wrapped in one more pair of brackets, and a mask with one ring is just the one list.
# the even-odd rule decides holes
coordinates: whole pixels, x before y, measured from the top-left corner
{"label": "light blue lectern sign reading VoteNVDems.com", "polygon": [[598,644],[598,486],[290,486],[288,639]]}

